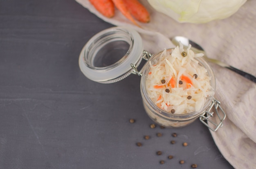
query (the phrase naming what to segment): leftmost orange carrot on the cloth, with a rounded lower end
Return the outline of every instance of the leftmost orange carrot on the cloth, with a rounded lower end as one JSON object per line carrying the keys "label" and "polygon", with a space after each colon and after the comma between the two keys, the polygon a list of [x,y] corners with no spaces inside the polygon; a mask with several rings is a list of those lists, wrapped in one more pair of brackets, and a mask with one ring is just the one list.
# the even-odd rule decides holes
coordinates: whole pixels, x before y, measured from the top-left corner
{"label": "leftmost orange carrot on the cloth, with a rounded lower end", "polygon": [[112,0],[89,0],[102,15],[111,18],[115,15],[115,5]]}

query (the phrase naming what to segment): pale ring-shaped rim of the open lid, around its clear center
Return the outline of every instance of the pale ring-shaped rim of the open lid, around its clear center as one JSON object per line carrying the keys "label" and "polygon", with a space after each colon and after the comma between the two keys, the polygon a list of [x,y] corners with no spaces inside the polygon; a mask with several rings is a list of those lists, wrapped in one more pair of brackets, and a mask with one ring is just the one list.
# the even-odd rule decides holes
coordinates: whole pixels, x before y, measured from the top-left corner
{"label": "pale ring-shaped rim of the open lid, around its clear center", "polygon": [[[94,65],[97,53],[111,42],[124,41],[129,49],[120,60],[106,67]],[[137,31],[127,27],[111,27],[95,34],[84,45],[79,56],[79,67],[90,80],[100,83],[113,83],[126,78],[132,73],[130,64],[136,66],[142,60],[143,43]]]}

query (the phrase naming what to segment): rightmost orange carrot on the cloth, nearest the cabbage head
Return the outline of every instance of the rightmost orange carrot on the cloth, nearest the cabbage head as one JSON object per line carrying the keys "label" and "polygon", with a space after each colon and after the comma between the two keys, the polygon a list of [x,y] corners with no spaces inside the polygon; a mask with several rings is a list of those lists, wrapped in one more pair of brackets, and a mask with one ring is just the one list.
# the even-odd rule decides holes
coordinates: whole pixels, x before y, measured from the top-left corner
{"label": "rightmost orange carrot on the cloth, nearest the cabbage head", "polygon": [[138,0],[124,0],[124,2],[132,16],[139,22],[147,23],[150,21],[147,9]]}

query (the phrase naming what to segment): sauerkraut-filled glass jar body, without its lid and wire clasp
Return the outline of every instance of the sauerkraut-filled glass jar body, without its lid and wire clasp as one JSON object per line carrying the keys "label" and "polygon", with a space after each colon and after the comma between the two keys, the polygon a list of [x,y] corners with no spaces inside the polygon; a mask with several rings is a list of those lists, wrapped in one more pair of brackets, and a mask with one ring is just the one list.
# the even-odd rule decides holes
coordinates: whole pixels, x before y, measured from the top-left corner
{"label": "sauerkraut-filled glass jar body, without its lid and wire clasp", "polygon": [[202,53],[183,45],[152,56],[143,68],[141,95],[150,118],[165,127],[193,122],[209,107],[215,76]]}

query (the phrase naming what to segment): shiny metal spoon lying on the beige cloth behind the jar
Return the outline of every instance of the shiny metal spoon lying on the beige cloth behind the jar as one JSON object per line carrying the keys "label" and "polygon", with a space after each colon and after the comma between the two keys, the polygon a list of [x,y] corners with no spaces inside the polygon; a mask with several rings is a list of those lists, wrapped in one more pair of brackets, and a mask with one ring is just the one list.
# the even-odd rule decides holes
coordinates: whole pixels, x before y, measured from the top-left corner
{"label": "shiny metal spoon lying on the beige cloth behind the jar", "polygon": [[239,70],[239,69],[236,69],[235,67],[232,67],[232,66],[230,66],[230,65],[228,65],[228,64],[226,64],[226,63],[224,63],[224,62],[221,62],[220,60],[208,58],[208,57],[206,56],[206,53],[205,53],[204,49],[202,49],[202,47],[201,47],[199,44],[197,44],[197,43],[195,43],[195,42],[189,40],[188,38],[185,38],[185,37],[183,37],[183,36],[175,36],[175,37],[171,38],[171,41],[172,41],[173,44],[176,45],[176,46],[179,45],[180,42],[181,42],[185,47],[188,47],[189,44],[191,44],[191,46],[192,46],[191,49],[192,49],[193,51],[197,52],[197,53],[203,53],[205,60],[207,60],[207,61],[209,61],[209,62],[216,63],[216,64],[220,65],[221,67],[225,67],[225,68],[227,68],[227,69],[230,69],[231,71],[234,71],[234,72],[236,72],[236,73],[242,75],[243,77],[245,77],[245,78],[247,78],[247,79],[249,79],[249,80],[252,80],[253,82],[256,83],[256,78],[255,78],[255,76],[252,76],[251,74],[246,73],[246,72],[244,72],[244,71],[241,71],[241,70]]}

